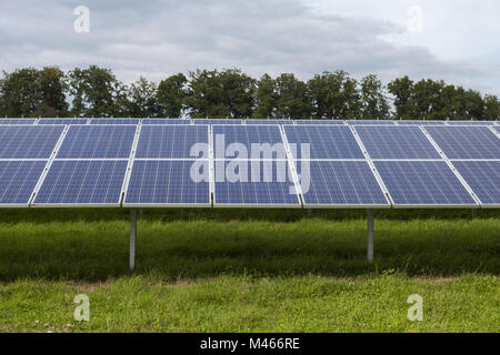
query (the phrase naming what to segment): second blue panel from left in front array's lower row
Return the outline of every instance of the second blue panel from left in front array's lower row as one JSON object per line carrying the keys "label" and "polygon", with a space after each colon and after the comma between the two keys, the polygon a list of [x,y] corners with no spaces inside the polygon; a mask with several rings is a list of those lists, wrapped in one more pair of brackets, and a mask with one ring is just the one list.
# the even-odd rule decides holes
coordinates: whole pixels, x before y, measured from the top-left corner
{"label": "second blue panel from left in front array's lower row", "polygon": [[119,205],[128,161],[58,161],[49,169],[34,205]]}

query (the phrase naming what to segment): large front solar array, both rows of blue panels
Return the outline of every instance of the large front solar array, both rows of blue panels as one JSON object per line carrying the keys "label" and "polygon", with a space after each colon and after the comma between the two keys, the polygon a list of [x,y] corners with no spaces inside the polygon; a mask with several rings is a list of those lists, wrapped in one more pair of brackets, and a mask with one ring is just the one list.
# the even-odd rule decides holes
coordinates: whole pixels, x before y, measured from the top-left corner
{"label": "large front solar array, both rows of blue panels", "polygon": [[[26,206],[36,193],[32,205],[118,205],[126,193],[123,204],[129,206],[208,206],[212,191],[216,206],[299,207],[299,194],[306,206],[478,206],[462,178],[482,205],[500,203],[499,128],[496,133],[490,128],[283,126],[290,148],[300,145],[301,152],[298,155],[298,149],[291,150],[293,160],[289,162],[278,155],[283,135],[277,125],[214,125],[212,179],[211,160],[203,148],[209,143],[208,126],[76,125],[64,130],[50,125],[0,128],[0,159],[9,160],[0,162],[0,204]],[[218,143],[223,148],[220,155]],[[262,144],[269,144],[274,149],[272,158],[280,161],[270,166],[262,161],[233,161],[233,155],[226,155],[232,143],[243,148],[257,144],[259,154]],[[434,143],[449,158],[463,161],[450,166]],[[303,155],[308,151],[303,145],[309,145],[310,155]],[[376,171],[363,152],[374,159]],[[192,160],[200,156],[201,161]],[[252,156],[264,158],[238,155]],[[296,176],[289,164],[296,165]]]}

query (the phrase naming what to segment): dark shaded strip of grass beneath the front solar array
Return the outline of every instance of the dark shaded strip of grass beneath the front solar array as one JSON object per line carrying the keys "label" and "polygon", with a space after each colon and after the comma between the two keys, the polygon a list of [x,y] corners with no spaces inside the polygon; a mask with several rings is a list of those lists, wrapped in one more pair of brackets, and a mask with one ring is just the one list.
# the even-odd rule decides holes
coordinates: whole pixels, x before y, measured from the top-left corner
{"label": "dark shaded strip of grass beneath the front solar array", "polygon": [[[16,223],[0,229],[0,281],[106,281],[129,275],[129,224]],[[500,273],[500,221],[376,222],[366,261],[366,221],[139,222],[136,274],[164,281],[219,275],[290,276]]]}

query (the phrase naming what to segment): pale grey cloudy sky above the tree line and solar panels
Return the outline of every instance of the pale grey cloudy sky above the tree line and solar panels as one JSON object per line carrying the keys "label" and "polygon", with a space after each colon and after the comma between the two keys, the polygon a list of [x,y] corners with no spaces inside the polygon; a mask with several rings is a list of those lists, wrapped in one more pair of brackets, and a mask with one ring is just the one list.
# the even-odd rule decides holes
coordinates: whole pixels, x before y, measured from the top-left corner
{"label": "pale grey cloudy sky above the tree line and solar panels", "polygon": [[[498,0],[0,0],[0,69],[98,64],[126,82],[197,68],[346,70],[500,95]],[[89,32],[79,6],[90,11]],[[76,26],[77,24],[77,26]],[[76,28],[77,30],[76,31]]]}

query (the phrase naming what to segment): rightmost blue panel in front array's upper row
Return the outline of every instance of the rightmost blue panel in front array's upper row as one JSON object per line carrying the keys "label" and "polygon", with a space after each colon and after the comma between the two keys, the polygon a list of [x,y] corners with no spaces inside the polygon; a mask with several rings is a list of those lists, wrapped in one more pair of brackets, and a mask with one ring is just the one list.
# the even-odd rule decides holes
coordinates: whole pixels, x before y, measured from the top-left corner
{"label": "rightmost blue panel in front array's upper row", "polygon": [[500,159],[500,140],[487,126],[427,126],[449,159]]}

